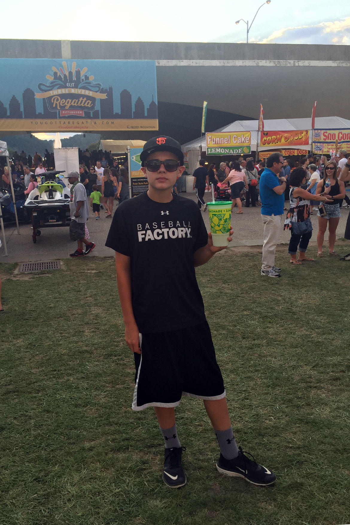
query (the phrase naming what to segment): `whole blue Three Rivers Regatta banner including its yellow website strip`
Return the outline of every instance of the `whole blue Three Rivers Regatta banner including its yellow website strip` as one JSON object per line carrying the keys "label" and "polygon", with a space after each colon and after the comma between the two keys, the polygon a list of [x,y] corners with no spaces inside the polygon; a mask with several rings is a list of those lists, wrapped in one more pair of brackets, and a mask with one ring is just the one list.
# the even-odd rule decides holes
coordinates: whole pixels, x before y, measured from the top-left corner
{"label": "whole blue Three Rivers Regatta banner including its yellow website strip", "polygon": [[153,60],[1,58],[0,131],[157,130]]}

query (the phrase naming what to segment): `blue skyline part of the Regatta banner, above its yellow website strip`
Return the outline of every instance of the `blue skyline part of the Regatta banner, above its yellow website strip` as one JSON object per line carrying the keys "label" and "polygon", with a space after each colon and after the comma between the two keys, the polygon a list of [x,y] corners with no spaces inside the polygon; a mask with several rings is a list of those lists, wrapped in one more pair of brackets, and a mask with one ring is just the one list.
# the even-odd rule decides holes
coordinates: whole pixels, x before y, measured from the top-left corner
{"label": "blue skyline part of the Regatta banner, above its yellow website strip", "polygon": [[[0,119],[158,118],[155,64],[151,61],[85,60],[81,69],[77,61],[65,60],[1,59],[1,63],[4,72],[23,69],[22,78],[29,81],[0,88]],[[46,82],[40,82],[40,77]]]}

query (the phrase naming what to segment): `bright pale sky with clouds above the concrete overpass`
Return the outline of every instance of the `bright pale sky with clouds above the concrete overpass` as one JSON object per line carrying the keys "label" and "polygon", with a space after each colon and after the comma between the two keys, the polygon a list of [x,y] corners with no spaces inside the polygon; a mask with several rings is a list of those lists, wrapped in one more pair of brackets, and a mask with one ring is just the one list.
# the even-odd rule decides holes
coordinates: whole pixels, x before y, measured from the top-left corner
{"label": "bright pale sky with clouds above the concrete overpass", "polygon": [[[250,25],[262,6],[249,31],[251,43],[350,45],[350,0],[60,0],[59,8],[37,0],[33,6],[4,3],[3,19],[20,16],[15,33],[12,24],[3,24],[1,38],[245,43],[247,25],[235,22],[243,18]],[[55,133],[36,137],[50,140]]]}

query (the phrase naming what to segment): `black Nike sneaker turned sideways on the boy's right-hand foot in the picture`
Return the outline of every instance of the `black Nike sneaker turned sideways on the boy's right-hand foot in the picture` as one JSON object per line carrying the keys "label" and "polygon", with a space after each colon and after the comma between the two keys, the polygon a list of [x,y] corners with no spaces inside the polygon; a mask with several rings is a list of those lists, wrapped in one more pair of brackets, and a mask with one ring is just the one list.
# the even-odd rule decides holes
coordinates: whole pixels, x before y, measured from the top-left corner
{"label": "black Nike sneaker turned sideways on the boy's right-hand foot in the picture", "polygon": [[272,485],[276,480],[276,475],[266,467],[259,465],[251,454],[249,456],[253,460],[249,459],[245,454],[249,454],[249,452],[243,452],[242,447],[239,447],[239,454],[234,459],[225,459],[220,454],[216,468],[221,474],[245,478],[253,485]]}

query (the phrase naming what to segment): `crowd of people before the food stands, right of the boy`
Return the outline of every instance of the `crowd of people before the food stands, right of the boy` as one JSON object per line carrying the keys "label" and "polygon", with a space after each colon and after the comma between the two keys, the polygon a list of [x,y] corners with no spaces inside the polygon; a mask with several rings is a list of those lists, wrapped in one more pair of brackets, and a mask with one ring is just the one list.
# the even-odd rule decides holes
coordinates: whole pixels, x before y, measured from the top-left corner
{"label": "crowd of people before the food stands, right of the boy", "polygon": [[[300,161],[292,162],[283,159],[279,153],[273,153],[266,164],[263,161],[254,164],[253,158],[245,160],[241,157],[237,161],[221,162],[219,166],[212,163],[208,170],[205,160],[200,159],[199,167],[193,173],[193,189],[196,191],[198,207],[200,209],[203,206],[204,211],[207,209],[205,191],[210,191],[211,184],[214,185],[216,199],[230,199],[231,211],[237,207],[236,214],[243,213],[243,204],[246,208],[250,205],[261,206],[264,223],[261,273],[269,277],[280,277],[280,268],[274,266],[274,251],[284,211],[288,212],[284,229],[291,230],[288,250],[291,264],[312,260],[305,256],[305,251],[312,236],[310,215],[314,212],[317,213],[319,223],[317,257],[323,257],[322,248],[327,227],[329,254],[338,255],[334,244],[340,208],[350,207],[350,199],[345,192],[347,181],[345,175],[343,179],[341,176],[344,166],[347,166],[347,156],[346,150],[341,150],[331,160],[325,155],[319,157],[310,153]],[[264,199],[261,197],[261,183]],[[270,186],[266,188],[266,184]],[[303,223],[303,227],[298,226],[300,223]],[[305,231],[299,234],[301,230]],[[346,230],[349,231],[345,233],[345,238],[350,238],[350,224]],[[298,246],[299,257],[296,259]],[[344,257],[345,260],[349,258],[348,255]]]}

